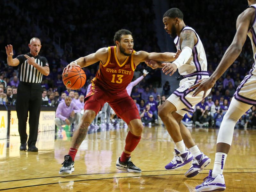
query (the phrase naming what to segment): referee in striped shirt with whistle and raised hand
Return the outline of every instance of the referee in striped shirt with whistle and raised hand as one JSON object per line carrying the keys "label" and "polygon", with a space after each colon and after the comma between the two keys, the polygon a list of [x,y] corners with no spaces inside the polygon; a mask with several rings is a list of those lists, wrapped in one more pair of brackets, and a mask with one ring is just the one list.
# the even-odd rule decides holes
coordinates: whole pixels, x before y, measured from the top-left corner
{"label": "referee in striped shirt with whistle and raised hand", "polygon": [[[41,81],[43,75],[50,73],[49,64],[45,57],[38,55],[42,45],[40,39],[33,37],[28,47],[30,52],[12,58],[12,45],[5,47],[7,54],[7,64],[9,66],[19,65],[20,83],[17,89],[16,111],[19,121],[20,150],[38,151],[36,140],[38,133],[38,123],[42,103]],[[29,111],[29,138],[26,133],[27,119]]]}

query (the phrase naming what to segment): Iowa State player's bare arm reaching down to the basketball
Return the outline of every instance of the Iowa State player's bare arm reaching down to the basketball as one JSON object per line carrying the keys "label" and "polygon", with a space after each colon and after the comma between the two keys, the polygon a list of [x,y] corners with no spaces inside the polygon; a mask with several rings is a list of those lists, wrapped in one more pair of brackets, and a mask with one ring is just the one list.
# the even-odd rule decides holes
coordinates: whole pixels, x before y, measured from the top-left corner
{"label": "Iowa State player's bare arm reaching down to the basketball", "polygon": [[77,66],[77,65],[80,66],[81,68],[87,67],[89,65],[97,63],[98,61],[101,61],[104,64],[107,62],[107,59],[108,59],[108,48],[104,47],[97,50],[95,53],[92,53],[85,57],[80,57],[75,61],[72,61],[70,64],[67,65],[67,67],[65,67],[64,71],[68,70],[69,68],[72,69],[73,66]]}

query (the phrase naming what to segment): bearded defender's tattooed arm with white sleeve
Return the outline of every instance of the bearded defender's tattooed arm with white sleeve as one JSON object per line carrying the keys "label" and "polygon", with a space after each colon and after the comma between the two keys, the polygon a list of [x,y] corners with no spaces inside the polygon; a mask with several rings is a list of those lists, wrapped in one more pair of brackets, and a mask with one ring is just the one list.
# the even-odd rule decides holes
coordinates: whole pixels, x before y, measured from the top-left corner
{"label": "bearded defender's tattooed arm with white sleeve", "polygon": [[192,54],[196,42],[198,41],[196,34],[192,30],[184,30],[180,33],[181,53],[179,57],[172,63],[163,63],[165,65],[163,73],[170,73],[170,76],[182,65],[186,64]]}

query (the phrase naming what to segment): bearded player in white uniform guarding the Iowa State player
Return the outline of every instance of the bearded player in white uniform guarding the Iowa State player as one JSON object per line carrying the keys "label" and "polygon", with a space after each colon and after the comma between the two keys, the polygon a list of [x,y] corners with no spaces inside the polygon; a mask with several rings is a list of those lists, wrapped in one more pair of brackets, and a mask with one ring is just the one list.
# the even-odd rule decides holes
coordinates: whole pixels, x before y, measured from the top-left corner
{"label": "bearded player in white uniform guarding the Iowa State player", "polygon": [[[158,109],[158,115],[175,144],[174,158],[165,169],[178,169],[193,160],[185,176],[194,177],[211,162],[211,159],[199,150],[189,130],[180,121],[187,111],[193,112],[195,105],[202,100],[203,94],[192,97],[194,92],[189,90],[189,87],[203,78],[209,78],[206,56],[199,36],[194,29],[185,25],[183,13],[179,9],[172,8],[165,12],[163,22],[166,32],[176,37],[174,43],[177,50],[182,50],[173,63],[146,62],[153,69],[164,67],[162,70],[165,75],[170,73],[171,76],[177,69],[181,74],[180,87]],[[210,91],[211,89],[207,94]]]}

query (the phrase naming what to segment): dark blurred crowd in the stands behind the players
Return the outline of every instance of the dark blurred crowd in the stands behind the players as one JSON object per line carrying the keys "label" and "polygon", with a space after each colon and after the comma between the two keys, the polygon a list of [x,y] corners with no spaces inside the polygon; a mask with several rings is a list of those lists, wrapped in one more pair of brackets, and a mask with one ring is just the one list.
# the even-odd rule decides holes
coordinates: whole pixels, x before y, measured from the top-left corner
{"label": "dark blurred crowd in the stands behind the players", "polygon": [[[190,6],[186,6],[189,2]],[[212,74],[232,42],[236,32],[236,18],[245,9],[247,2],[234,0],[230,4],[228,1],[205,0],[200,3],[200,11],[193,1],[186,1],[186,4],[184,1],[171,2],[170,7],[180,8],[184,13],[184,22],[193,27],[200,36],[207,56],[208,72]],[[123,9],[130,12],[122,11]],[[113,45],[113,36],[121,28],[132,31],[135,50],[160,51],[153,22],[155,13],[152,0],[129,1],[124,4],[116,1],[97,3],[78,0],[24,0],[18,6],[4,0],[0,2],[0,16],[0,27],[3,29],[0,34],[0,104],[15,105],[19,84],[18,68],[6,64],[4,47],[7,44],[13,45],[16,57],[28,52],[31,37],[37,36],[41,39],[40,55],[48,59],[50,66],[50,75],[41,84],[43,105],[46,106],[57,106],[67,95],[72,100],[76,99],[77,103],[78,100],[82,101],[98,70],[98,64],[84,68],[87,81],[76,92],[67,89],[62,82],[64,67],[76,58]],[[214,26],[215,23],[219,27]],[[49,28],[49,35],[45,26]],[[52,41],[53,35],[60,37],[61,51]],[[65,50],[65,45],[71,46],[72,52]],[[253,62],[251,42],[247,39],[242,53],[216,82],[211,94],[195,107],[193,114],[187,113],[183,122],[188,126],[219,127],[237,86],[248,74]],[[168,81],[161,85],[161,70],[153,71],[145,64],[138,65],[134,80],[142,75],[143,69],[147,69],[149,74],[132,89],[131,96],[138,105],[143,121],[146,124],[159,124],[157,107],[171,94],[171,85]],[[148,111],[152,112],[152,117],[147,117]],[[236,127],[256,127],[255,106],[244,114]]]}

